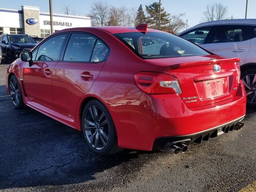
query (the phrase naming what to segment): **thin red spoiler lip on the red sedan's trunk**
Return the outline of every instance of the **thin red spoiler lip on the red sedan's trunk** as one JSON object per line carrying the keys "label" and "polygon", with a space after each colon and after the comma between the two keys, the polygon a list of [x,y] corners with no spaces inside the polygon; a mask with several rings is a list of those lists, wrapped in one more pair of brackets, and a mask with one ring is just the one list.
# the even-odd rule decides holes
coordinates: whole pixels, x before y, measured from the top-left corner
{"label": "thin red spoiler lip on the red sedan's trunk", "polygon": [[228,58],[228,59],[214,59],[208,61],[195,61],[195,62],[187,62],[187,63],[180,63],[170,66],[172,69],[176,68],[188,68],[188,67],[196,67],[196,66],[203,66],[203,65],[212,65],[212,64],[221,64],[221,63],[232,63],[232,62],[240,62],[240,58]]}

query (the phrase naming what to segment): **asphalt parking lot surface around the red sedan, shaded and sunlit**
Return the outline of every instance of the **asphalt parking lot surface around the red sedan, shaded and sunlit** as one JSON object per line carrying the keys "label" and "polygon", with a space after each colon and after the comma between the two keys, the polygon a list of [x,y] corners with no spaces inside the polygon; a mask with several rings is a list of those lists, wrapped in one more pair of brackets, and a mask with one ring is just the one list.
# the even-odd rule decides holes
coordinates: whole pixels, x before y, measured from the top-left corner
{"label": "asphalt parking lot surface around the red sedan, shaded and sunlit", "polygon": [[88,151],[81,132],[30,108],[15,110],[5,72],[0,64],[1,192],[233,192],[256,180],[256,109],[247,109],[241,130],[191,144],[185,154],[103,157]]}

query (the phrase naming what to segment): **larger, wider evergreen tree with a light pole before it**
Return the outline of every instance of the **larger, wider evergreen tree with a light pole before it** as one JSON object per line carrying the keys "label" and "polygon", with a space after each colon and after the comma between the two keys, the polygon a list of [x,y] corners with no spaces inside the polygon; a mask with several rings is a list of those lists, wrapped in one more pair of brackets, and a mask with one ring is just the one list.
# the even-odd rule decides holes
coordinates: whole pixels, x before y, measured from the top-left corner
{"label": "larger, wider evergreen tree with a light pole before it", "polygon": [[[162,4],[161,4],[162,5]],[[158,29],[158,25],[159,25],[159,2],[153,2],[152,4],[146,6],[146,11],[148,13],[148,22],[150,25],[150,28],[152,29]],[[170,19],[170,13],[167,13],[164,8],[161,6],[161,10],[160,10],[160,29],[164,26],[166,26],[166,24],[169,23]]]}

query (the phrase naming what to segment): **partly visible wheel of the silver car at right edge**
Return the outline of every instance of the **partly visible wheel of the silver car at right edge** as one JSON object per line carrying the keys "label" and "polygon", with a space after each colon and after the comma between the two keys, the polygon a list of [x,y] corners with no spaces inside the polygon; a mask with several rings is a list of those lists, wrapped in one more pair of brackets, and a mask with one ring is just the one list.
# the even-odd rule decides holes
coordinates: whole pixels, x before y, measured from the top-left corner
{"label": "partly visible wheel of the silver car at right edge", "polygon": [[247,106],[256,107],[256,68],[242,71],[241,79],[246,91]]}

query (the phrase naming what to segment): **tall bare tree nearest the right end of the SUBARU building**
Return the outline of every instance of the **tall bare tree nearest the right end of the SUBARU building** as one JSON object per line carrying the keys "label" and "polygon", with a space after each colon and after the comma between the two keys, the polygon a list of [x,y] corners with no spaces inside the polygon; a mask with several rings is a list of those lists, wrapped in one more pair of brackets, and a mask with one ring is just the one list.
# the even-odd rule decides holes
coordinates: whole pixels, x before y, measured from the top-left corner
{"label": "tall bare tree nearest the right end of the SUBARU building", "polygon": [[103,26],[108,19],[109,5],[108,2],[96,1],[91,5],[90,17],[92,24]]}

